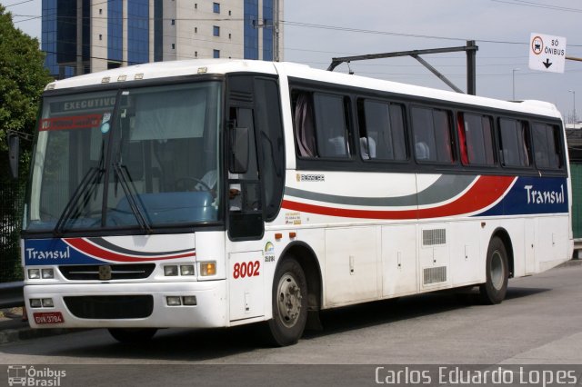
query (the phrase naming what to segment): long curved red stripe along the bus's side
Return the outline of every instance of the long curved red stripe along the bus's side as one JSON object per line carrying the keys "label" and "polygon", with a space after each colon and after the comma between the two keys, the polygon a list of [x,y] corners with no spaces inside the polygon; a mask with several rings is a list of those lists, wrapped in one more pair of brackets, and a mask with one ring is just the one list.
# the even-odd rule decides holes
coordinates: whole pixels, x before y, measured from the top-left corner
{"label": "long curved red stripe along the bus's side", "polygon": [[496,203],[517,177],[513,176],[481,176],[466,193],[455,201],[437,207],[415,210],[354,210],[347,208],[328,207],[324,205],[299,203],[290,200],[283,201],[286,210],[320,215],[340,216],[359,219],[426,219],[474,213]]}

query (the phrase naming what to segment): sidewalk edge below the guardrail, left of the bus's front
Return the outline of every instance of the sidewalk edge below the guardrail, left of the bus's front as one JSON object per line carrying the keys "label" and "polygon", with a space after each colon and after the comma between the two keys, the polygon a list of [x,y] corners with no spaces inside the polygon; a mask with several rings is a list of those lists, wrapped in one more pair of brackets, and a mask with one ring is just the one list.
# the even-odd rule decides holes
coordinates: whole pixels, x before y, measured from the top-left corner
{"label": "sidewalk edge below the guardrail, left of the bus's front", "polygon": [[23,308],[0,309],[0,345],[19,340],[36,339],[72,332],[68,329],[31,329],[28,322],[22,321]]}

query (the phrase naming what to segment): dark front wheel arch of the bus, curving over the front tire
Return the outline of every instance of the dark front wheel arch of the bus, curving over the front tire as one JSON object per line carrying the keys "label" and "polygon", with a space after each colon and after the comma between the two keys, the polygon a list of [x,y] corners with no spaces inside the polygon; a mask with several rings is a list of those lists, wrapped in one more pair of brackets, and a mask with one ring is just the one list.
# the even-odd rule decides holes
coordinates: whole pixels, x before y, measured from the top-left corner
{"label": "dark front wheel arch of the bus, curving over the front tire", "polygon": [[293,255],[297,263],[306,276],[307,282],[307,310],[318,311],[322,304],[322,277],[321,268],[317,255],[313,249],[304,242],[289,243],[281,253],[281,258],[277,262],[277,267],[281,264],[287,255]]}

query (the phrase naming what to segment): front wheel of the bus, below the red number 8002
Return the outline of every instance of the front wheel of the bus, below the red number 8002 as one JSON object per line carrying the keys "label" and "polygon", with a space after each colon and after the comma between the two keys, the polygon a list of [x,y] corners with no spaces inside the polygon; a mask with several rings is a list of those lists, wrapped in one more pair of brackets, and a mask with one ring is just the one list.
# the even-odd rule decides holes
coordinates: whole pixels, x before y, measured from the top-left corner
{"label": "front wheel of the bus, below the red number 8002", "polygon": [[276,268],[272,306],[268,341],[276,346],[295,344],[306,327],[307,282],[303,268],[291,256]]}

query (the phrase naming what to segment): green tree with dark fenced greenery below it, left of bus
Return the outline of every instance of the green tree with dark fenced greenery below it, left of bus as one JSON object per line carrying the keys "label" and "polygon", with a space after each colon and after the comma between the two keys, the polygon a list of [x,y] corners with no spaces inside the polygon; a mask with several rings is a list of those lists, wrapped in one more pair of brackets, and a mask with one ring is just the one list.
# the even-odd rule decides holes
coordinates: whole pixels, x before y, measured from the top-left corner
{"label": "green tree with dark fenced greenery below it, left of bus", "polygon": [[15,28],[0,5],[0,283],[22,279],[19,233],[31,141],[21,141],[21,179],[9,177],[7,131],[33,134],[38,101],[51,81],[38,40]]}

